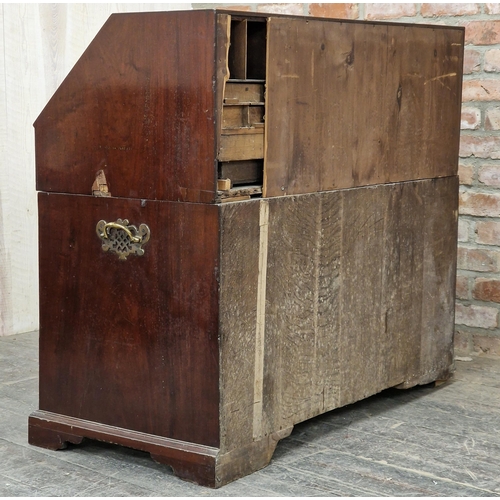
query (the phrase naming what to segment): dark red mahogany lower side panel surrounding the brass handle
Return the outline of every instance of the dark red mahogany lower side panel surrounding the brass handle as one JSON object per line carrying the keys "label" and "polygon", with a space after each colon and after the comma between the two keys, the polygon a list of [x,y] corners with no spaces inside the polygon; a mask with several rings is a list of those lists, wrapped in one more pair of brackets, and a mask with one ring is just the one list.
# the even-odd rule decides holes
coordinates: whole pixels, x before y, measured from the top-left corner
{"label": "dark red mahogany lower side panel surrounding the brass handle", "polygon": [[[40,194],[40,409],[219,444],[218,212],[208,204]],[[145,223],[142,257],[99,220]]]}

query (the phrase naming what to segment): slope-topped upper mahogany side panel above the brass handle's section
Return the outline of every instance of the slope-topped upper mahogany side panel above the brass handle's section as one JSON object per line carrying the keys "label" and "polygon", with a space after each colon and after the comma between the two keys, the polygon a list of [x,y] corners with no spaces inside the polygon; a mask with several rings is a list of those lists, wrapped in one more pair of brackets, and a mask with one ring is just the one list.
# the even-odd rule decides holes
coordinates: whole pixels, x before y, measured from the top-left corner
{"label": "slope-topped upper mahogany side panel above the brass handle's section", "polygon": [[115,14],[35,122],[37,189],[210,202],[215,14]]}

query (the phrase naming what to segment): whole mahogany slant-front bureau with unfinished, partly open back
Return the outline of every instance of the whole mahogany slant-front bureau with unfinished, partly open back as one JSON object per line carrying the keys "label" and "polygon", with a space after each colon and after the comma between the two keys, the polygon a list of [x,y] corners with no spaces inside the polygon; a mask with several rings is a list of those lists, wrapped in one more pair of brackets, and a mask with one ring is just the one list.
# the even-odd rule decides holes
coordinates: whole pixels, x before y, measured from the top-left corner
{"label": "whole mahogany slant-front bureau with unfinished, partly open back", "polygon": [[29,441],[219,487],[449,377],[464,30],[114,14],[35,122]]}

